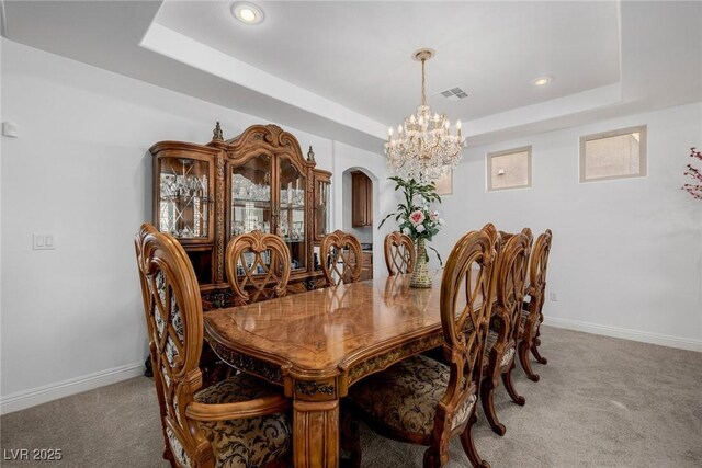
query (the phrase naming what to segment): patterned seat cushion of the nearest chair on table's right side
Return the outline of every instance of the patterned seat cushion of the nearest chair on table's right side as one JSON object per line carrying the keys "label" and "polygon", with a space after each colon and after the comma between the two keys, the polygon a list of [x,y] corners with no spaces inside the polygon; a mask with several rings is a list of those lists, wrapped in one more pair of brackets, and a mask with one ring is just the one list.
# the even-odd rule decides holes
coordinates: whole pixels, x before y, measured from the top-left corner
{"label": "patterned seat cushion of the nearest chair on table's right side", "polygon": [[[383,425],[429,435],[450,376],[446,365],[417,355],[364,378],[349,389],[349,396],[366,416]],[[452,427],[467,420],[475,400],[475,395],[466,400],[456,412]]]}

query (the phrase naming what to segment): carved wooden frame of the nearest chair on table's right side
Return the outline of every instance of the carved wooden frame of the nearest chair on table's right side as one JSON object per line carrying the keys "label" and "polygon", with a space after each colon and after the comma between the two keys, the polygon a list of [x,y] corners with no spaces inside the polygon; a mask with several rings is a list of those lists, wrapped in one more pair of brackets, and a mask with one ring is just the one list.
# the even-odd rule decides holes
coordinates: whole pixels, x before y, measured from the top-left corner
{"label": "carved wooden frame of the nearest chair on table's right side", "polygon": [[[496,230],[494,236],[486,231],[468,232],[458,240],[446,260],[441,281],[440,308],[444,338],[442,351],[450,378],[443,397],[437,403],[431,433],[407,432],[365,418],[376,432],[386,437],[428,446],[424,467],[439,467],[448,463],[449,443],[454,436],[461,437],[463,448],[474,466],[489,466],[480,459],[475,448],[472,426],[477,421],[475,410],[492,304],[497,242],[499,236]],[[358,410],[355,406],[353,408]],[[352,418],[344,418],[343,431],[354,434],[356,430],[349,421]],[[350,438],[351,463],[352,466],[359,466],[360,446],[358,440],[353,441],[353,436]]]}

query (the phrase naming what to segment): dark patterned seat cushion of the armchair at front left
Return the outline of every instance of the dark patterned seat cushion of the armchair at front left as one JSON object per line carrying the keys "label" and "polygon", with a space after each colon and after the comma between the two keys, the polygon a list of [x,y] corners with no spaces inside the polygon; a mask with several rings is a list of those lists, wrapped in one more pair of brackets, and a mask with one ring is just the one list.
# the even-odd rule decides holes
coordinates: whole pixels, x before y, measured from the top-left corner
{"label": "dark patterned seat cushion of the armchair at front left", "polygon": [[[280,395],[281,388],[247,374],[237,374],[195,393],[195,401],[217,404]],[[200,422],[217,467],[263,466],[283,456],[292,445],[285,413],[230,421]]]}

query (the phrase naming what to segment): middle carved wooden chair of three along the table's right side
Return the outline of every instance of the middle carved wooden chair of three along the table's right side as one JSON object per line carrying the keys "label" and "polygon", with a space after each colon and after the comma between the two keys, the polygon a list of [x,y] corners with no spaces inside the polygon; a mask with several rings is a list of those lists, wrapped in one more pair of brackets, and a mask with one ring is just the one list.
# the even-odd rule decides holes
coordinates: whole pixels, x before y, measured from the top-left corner
{"label": "middle carved wooden chair of three along the table's right side", "polygon": [[501,377],[512,401],[524,404],[524,397],[514,389],[512,370],[520,339],[532,235],[529,228],[524,228],[518,235],[500,231],[500,237],[507,241],[502,243],[495,265],[496,304],[483,361],[480,402],[492,431],[505,435],[505,424],[499,422],[495,410],[494,395],[499,386],[498,377]]}

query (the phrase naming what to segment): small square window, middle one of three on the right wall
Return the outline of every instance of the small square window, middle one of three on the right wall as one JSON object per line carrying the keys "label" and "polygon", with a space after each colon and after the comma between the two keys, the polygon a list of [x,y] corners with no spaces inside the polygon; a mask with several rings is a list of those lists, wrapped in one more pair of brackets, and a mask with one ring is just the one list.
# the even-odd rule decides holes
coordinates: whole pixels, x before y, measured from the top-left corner
{"label": "small square window, middle one of three on the right wall", "polygon": [[531,186],[531,146],[487,155],[488,192]]}

